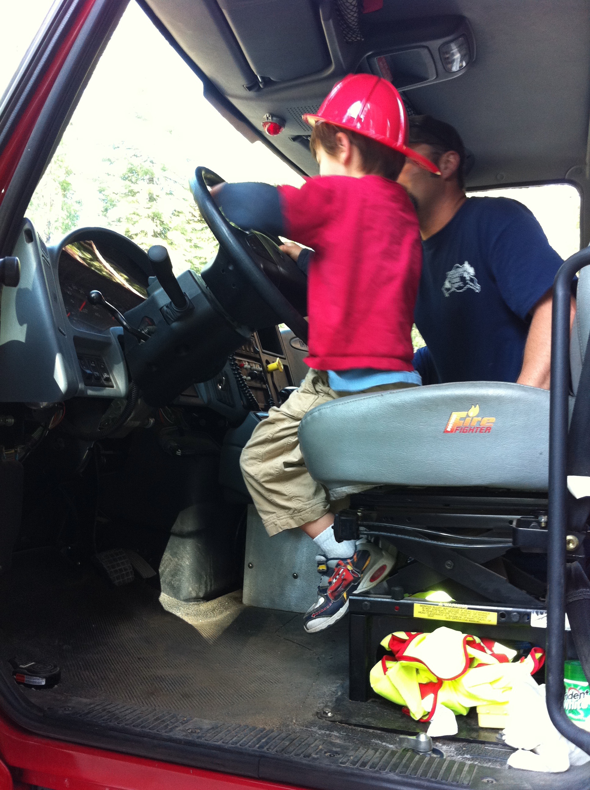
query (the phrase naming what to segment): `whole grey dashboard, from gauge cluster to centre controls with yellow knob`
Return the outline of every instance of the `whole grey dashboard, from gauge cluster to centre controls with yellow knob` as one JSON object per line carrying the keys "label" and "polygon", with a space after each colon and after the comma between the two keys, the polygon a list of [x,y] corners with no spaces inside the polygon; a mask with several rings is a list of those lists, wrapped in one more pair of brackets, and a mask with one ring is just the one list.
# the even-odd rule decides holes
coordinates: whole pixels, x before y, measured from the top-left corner
{"label": "whole grey dashboard, from gauge cluster to centre controls with yellow knob", "polygon": [[[293,344],[300,342],[297,338],[276,326],[250,337],[193,272],[182,273],[179,284],[194,307],[188,318],[171,326],[169,297],[153,277],[147,254],[115,231],[81,228],[47,248],[24,220],[14,254],[21,260],[21,283],[4,288],[1,297],[0,365],[10,371],[0,379],[2,402],[124,398],[131,371],[150,405],[176,398],[179,404],[207,405],[238,424],[249,411],[279,403],[280,391],[297,386],[305,375],[306,349]],[[143,345],[128,333],[124,337],[108,310],[89,303],[93,290],[132,325],[156,326],[155,333]],[[182,324],[193,327],[188,343]],[[133,354],[152,349],[152,359],[144,353],[143,368],[136,362],[134,371]],[[269,371],[270,365],[276,367]],[[148,386],[162,387],[152,400],[137,371],[148,376]],[[191,380],[203,383],[182,392]]]}

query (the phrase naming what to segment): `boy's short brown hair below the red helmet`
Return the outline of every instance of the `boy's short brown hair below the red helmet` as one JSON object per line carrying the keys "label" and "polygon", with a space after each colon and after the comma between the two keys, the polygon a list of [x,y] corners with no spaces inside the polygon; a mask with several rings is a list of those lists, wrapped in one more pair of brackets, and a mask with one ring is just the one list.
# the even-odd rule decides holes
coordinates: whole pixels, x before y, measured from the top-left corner
{"label": "boy's short brown hair below the red helmet", "polygon": [[365,137],[364,134],[343,129],[341,126],[335,126],[333,123],[325,121],[316,123],[311,131],[310,149],[315,159],[318,159],[316,153],[318,145],[321,145],[325,152],[331,156],[336,154],[338,149],[336,134],[340,132],[345,134],[352,145],[359,149],[363,162],[363,171],[365,171],[366,175],[382,175],[385,179],[396,181],[406,160],[403,153],[394,151],[389,148],[389,145],[383,145],[383,143],[379,143],[376,140],[371,140],[370,137]]}

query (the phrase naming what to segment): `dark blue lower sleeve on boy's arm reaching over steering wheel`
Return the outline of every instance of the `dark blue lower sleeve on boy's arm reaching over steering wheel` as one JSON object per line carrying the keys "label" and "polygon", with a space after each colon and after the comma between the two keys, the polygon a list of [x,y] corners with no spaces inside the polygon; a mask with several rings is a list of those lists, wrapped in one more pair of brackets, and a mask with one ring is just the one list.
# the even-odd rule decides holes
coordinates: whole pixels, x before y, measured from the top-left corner
{"label": "dark blue lower sleeve on boy's arm reaching over steering wheel", "polygon": [[284,235],[279,190],[270,184],[223,184],[215,198],[230,222],[246,231]]}

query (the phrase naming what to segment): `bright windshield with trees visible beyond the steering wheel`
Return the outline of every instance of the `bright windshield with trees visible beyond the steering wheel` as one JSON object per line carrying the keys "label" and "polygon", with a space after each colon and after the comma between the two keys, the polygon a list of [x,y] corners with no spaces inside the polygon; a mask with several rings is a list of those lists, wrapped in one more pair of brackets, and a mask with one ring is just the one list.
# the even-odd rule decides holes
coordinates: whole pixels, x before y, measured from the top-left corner
{"label": "bright windshield with trees visible beyond the steering wheel", "polygon": [[73,228],[112,228],[145,250],[167,246],[176,274],[198,271],[217,243],[189,190],[197,165],[227,181],[303,183],[203,98],[201,81],[130,3],[27,216],[47,242]]}

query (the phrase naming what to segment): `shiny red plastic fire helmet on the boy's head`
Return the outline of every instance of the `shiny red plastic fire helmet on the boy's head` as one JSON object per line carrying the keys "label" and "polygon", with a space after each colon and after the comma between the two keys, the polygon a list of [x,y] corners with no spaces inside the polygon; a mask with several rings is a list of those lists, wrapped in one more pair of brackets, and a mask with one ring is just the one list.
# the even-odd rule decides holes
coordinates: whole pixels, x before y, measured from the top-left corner
{"label": "shiny red plastic fire helmet on the boy's head", "polygon": [[441,175],[425,156],[408,148],[408,115],[396,88],[374,74],[348,74],[329,92],[316,115],[303,115],[310,126],[333,123],[364,134],[403,153],[416,164]]}

